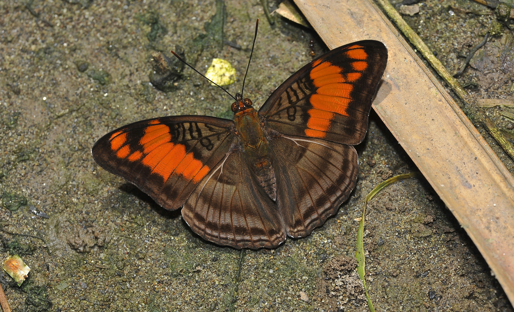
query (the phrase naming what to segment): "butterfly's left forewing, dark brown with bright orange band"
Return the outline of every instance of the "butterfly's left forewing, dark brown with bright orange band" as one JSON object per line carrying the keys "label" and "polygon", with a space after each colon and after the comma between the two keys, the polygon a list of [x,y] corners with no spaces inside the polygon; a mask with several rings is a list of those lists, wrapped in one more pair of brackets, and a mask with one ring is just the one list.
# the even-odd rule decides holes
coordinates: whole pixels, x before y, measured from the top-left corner
{"label": "butterfly's left forewing, dark brown with bright orange band", "polygon": [[104,135],[91,154],[102,168],[175,210],[225,157],[233,125],[209,116],[141,120]]}

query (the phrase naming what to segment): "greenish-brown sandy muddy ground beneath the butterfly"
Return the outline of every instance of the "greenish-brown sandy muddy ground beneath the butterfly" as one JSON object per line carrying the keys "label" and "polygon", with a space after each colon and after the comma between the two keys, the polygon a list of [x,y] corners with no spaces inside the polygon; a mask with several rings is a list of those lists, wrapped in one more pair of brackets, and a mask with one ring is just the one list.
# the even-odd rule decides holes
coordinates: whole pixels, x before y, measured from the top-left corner
{"label": "greenish-brown sandy muddy ground beneath the butterfly", "polygon": [[[270,10],[277,6],[270,2]],[[278,16],[270,25],[255,0],[2,0],[0,9],[0,257],[19,254],[32,269],[21,287],[0,273],[13,311],[367,310],[352,260],[354,219],[377,184],[416,170],[373,112],[357,146],[360,174],[350,199],[310,236],[274,250],[199,238],[179,212],[162,209],[90,155],[99,137],[136,120],[231,118],[228,96],[189,68],[173,67],[167,82],[154,74],[158,51],[183,51],[204,72],[213,57],[229,60],[238,82],[228,91],[235,93],[259,18],[246,87],[259,107],[312,59],[309,40],[316,55],[326,51],[312,30]],[[492,12],[429,0],[405,18],[454,73],[495,23]],[[475,98],[511,98],[513,60],[512,31],[504,27],[459,80]],[[510,109],[487,112],[512,133],[501,110]],[[514,163],[477,127],[512,172]],[[382,190],[366,218],[366,285],[378,311],[513,311],[422,178]]]}

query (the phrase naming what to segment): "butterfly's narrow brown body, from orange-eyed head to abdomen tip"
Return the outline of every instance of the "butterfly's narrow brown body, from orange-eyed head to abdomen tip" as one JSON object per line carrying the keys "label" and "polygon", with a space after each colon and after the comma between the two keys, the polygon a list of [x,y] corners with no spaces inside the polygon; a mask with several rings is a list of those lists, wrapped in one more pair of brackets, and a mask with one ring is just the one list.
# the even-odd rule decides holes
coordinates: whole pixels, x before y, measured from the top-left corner
{"label": "butterfly's narrow brown body, from orange-eyed head to abdomen tip", "polygon": [[263,124],[258,112],[251,106],[248,98],[243,100],[240,94],[236,94],[236,100],[232,108],[234,110],[234,123],[237,135],[240,137],[245,160],[257,181],[262,185],[266,194],[275,200],[277,197],[277,185],[275,173],[271,167],[271,149],[266,139]]}

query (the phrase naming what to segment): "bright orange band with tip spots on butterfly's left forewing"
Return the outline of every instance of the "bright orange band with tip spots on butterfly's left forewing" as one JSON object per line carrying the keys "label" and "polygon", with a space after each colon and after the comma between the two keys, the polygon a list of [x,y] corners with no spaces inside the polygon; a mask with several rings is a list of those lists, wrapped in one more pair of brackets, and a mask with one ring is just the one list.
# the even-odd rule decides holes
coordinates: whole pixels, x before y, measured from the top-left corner
{"label": "bright orange band with tip spots on butterfly's left forewing", "polygon": [[152,174],[161,176],[166,182],[172,174],[181,175],[187,181],[200,182],[210,171],[201,161],[194,158],[193,153],[186,152],[186,146],[171,141],[170,128],[152,120],[144,129],[144,135],[139,140],[142,151],[136,150],[131,154],[130,146],[126,143],[127,134],[118,131],[111,135],[111,149],[116,157],[126,158],[131,162],[141,160],[142,164],[152,170]]}

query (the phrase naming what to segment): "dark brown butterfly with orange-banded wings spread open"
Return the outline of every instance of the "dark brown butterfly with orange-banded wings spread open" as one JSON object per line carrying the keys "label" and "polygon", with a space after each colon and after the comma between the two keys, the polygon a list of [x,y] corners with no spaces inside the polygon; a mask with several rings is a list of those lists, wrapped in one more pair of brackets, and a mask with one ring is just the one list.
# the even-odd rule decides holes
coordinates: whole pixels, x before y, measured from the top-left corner
{"label": "dark brown butterfly with orange-banded wings spread open", "polygon": [[274,248],[309,235],[350,196],[353,145],[368,129],[387,59],[379,41],[343,45],[303,66],[259,111],[236,94],[233,120],[141,120],[101,137],[91,154],[165,209],[182,207],[204,239]]}

